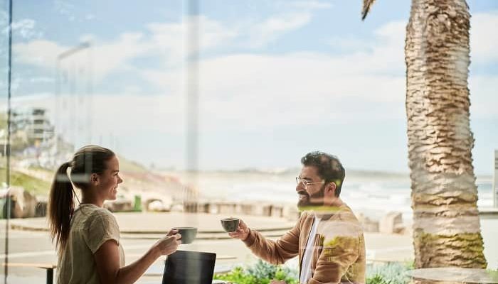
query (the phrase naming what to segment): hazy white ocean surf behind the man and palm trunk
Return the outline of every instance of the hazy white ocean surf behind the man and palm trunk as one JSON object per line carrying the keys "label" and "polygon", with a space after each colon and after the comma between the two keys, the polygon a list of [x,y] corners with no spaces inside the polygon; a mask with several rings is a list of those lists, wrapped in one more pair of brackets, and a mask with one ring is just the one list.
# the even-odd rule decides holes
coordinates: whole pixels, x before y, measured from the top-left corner
{"label": "hazy white ocean surf behind the man and palm trunk", "polygon": [[[295,174],[261,172],[208,172],[198,175],[197,188],[203,200],[296,204]],[[492,178],[477,178],[479,207],[492,207]],[[341,199],[370,219],[391,211],[401,212],[410,223],[410,179],[408,175],[355,172],[346,177]]]}

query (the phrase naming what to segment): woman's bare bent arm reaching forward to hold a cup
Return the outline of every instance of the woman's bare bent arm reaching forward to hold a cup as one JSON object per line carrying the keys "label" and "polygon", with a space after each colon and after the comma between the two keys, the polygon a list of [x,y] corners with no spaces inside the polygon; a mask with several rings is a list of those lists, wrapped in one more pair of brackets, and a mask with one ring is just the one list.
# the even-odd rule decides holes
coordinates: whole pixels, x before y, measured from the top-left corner
{"label": "woman's bare bent arm reaching forward to hold a cup", "polygon": [[[170,234],[172,232],[170,231]],[[159,239],[147,253],[128,266],[120,268],[119,246],[115,240],[106,241],[95,252],[95,264],[101,283],[127,284],[134,283],[147,271],[147,268],[159,258],[169,255],[178,249],[181,244],[180,234],[171,234]]]}

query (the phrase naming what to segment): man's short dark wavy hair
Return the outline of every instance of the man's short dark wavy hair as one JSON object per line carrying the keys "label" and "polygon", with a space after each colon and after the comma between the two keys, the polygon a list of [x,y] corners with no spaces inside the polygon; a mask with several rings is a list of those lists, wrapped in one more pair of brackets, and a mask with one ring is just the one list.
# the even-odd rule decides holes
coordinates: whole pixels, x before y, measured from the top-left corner
{"label": "man's short dark wavy hair", "polygon": [[344,178],[346,177],[346,170],[344,170],[339,158],[324,152],[314,151],[302,157],[301,163],[307,167],[317,167],[318,175],[325,181],[325,184],[335,182],[337,185],[335,196],[339,197],[342,182],[344,182]]}

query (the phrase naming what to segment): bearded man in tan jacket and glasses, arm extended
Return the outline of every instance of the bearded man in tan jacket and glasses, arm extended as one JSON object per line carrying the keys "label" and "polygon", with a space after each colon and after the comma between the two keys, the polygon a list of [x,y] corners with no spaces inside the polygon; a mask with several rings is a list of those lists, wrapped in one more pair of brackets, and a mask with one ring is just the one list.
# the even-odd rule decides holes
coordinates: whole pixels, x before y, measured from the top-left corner
{"label": "bearded man in tan jacket and glasses, arm extended", "polygon": [[272,241],[240,220],[230,236],[270,263],[298,256],[301,284],[365,283],[363,230],[339,197],[345,177],[341,162],[334,155],[312,152],[301,163],[296,192],[302,214],[294,228]]}

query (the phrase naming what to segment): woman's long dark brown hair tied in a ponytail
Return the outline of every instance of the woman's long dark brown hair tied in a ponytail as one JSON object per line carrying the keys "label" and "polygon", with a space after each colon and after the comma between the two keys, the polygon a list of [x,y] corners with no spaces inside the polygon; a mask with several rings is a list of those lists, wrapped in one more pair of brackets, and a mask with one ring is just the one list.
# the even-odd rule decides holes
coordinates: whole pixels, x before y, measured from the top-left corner
{"label": "woman's long dark brown hair tied in a ponytail", "polygon": [[[50,197],[48,199],[48,222],[51,229],[52,241],[63,251],[69,239],[71,217],[75,208],[75,187],[85,190],[90,183],[93,173],[101,174],[107,168],[106,162],[115,156],[107,148],[89,145],[80,148],[73,160],[63,163],[53,178]],[[71,168],[70,176],[68,168]]]}

